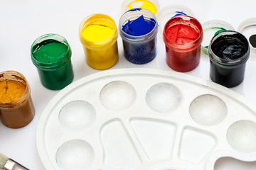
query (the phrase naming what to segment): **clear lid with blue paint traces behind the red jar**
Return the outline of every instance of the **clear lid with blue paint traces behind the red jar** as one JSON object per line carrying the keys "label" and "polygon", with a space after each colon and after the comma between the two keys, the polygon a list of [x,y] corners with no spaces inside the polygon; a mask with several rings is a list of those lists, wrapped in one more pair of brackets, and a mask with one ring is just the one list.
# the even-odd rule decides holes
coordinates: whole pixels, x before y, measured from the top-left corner
{"label": "clear lid with blue paint traces behind the red jar", "polygon": [[183,5],[169,5],[165,6],[164,8],[159,11],[157,17],[157,21],[159,22],[160,32],[163,33],[164,26],[171,18],[174,16],[192,16],[194,17],[193,11],[190,8],[183,6]]}

